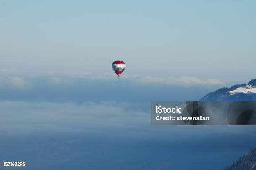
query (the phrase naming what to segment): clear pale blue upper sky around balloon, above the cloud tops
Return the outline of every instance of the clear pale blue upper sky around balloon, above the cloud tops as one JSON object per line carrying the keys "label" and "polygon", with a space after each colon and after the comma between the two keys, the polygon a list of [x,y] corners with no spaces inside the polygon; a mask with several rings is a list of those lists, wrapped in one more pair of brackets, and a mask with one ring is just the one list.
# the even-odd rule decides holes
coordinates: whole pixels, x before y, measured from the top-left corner
{"label": "clear pale blue upper sky around balloon, above the cloud tops", "polygon": [[1,1],[0,68],[244,82],[254,78],[255,1]]}

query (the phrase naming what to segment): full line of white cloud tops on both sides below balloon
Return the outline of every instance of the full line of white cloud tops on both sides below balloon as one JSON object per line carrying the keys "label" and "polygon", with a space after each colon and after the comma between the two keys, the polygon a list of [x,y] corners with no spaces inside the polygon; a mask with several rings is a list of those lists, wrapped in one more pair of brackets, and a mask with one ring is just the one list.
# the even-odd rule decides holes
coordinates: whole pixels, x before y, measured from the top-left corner
{"label": "full line of white cloud tops on both sides below balloon", "polygon": [[[40,79],[47,79],[46,81],[50,84],[72,84],[74,79],[84,80],[115,80],[117,76],[113,72],[103,72],[100,74],[92,74],[85,72],[83,74],[29,74],[29,75],[9,75],[5,77],[10,81],[6,83],[5,79],[2,78],[0,81],[0,87],[8,86],[9,84],[13,87],[23,88],[28,86],[33,81]],[[11,77],[11,78],[10,78]],[[131,82],[140,83],[152,83],[152,84],[167,84],[167,85],[180,85],[180,86],[195,86],[195,85],[224,85],[225,83],[219,79],[202,79],[196,76],[134,76],[131,74],[122,74],[120,79],[128,80]]]}

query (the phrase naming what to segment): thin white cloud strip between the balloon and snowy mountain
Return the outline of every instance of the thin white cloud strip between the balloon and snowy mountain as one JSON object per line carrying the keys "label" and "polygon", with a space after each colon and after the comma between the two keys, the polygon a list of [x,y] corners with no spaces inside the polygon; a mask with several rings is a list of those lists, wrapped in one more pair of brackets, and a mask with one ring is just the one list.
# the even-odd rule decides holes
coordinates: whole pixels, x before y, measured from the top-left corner
{"label": "thin white cloud strip between the balloon and snowy mountain", "polygon": [[152,77],[146,76],[137,78],[136,81],[142,83],[157,83],[157,84],[167,84],[167,85],[223,85],[224,83],[218,79],[206,79],[202,80],[197,77]]}

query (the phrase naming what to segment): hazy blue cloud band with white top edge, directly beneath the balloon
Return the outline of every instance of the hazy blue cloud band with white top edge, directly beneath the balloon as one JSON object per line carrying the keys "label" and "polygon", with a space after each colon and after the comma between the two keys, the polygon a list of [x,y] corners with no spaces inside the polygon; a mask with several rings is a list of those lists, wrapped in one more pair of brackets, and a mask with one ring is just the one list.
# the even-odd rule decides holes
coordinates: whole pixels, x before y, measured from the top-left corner
{"label": "hazy blue cloud band with white top edge, directly beneath the balloon", "polygon": [[[104,77],[56,74],[5,74],[0,76],[0,101],[79,102],[199,100],[222,85],[193,78]],[[218,84],[218,81],[217,83]]]}

